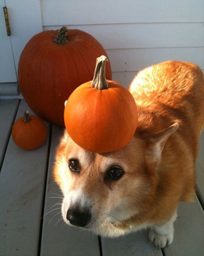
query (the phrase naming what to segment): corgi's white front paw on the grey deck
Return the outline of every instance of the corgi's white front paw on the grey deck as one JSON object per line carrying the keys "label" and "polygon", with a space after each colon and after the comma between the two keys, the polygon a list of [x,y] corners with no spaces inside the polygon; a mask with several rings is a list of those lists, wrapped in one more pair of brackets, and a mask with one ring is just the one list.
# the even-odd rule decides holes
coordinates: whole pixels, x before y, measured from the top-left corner
{"label": "corgi's white front paw on the grey deck", "polygon": [[157,249],[169,246],[173,242],[173,222],[177,214],[173,214],[163,225],[153,225],[149,231],[149,243],[154,242]]}

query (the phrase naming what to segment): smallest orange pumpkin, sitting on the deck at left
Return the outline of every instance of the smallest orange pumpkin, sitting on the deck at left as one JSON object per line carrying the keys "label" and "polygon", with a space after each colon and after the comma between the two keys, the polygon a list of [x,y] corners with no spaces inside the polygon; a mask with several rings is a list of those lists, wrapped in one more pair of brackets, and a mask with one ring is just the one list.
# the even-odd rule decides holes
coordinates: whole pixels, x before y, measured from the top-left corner
{"label": "smallest orange pumpkin, sitting on the deck at left", "polygon": [[29,115],[26,111],[12,127],[12,138],[16,145],[23,149],[40,147],[47,138],[45,123],[37,116]]}

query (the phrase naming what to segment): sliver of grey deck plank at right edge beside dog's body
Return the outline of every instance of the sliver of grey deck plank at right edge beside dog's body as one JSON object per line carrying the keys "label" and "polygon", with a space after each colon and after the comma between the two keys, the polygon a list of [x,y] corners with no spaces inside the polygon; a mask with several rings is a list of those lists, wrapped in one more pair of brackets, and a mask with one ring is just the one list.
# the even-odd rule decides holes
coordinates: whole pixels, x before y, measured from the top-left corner
{"label": "sliver of grey deck plank at right edge beside dog's body", "polygon": [[198,158],[196,161],[196,186],[201,205],[204,208],[204,131],[200,137],[200,147],[198,151]]}

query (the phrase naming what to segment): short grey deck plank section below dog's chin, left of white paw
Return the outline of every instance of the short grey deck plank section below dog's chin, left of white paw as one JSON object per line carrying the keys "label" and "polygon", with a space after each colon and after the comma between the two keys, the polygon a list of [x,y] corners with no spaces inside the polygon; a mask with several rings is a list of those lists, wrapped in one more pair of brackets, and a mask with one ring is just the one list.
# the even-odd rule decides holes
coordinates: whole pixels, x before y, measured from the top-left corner
{"label": "short grey deck plank section below dog's chin, left of white paw", "polygon": [[102,237],[103,256],[162,256],[161,250],[148,244],[148,231],[138,231],[117,238]]}

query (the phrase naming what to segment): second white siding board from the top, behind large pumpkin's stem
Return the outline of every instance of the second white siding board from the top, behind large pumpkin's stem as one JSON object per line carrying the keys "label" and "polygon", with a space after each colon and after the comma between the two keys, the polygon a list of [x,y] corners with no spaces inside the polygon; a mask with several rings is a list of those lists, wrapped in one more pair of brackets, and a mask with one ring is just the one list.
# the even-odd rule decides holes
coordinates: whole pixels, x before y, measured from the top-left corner
{"label": "second white siding board from the top, behind large pumpkin's stem", "polygon": [[[105,49],[203,47],[203,23],[68,25],[93,35]],[[59,29],[61,26],[45,26]]]}

